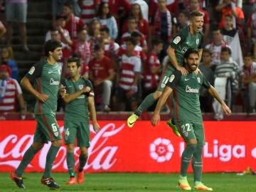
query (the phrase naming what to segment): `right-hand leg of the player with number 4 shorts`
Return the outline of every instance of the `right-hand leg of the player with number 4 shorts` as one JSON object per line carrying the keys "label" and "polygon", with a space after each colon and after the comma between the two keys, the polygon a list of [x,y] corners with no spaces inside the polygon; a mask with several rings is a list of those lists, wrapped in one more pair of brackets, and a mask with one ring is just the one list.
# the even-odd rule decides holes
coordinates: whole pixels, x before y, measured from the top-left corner
{"label": "right-hand leg of the player with number 4 shorts", "polygon": [[78,166],[78,183],[85,181],[84,167],[88,159],[88,148],[90,147],[90,128],[89,119],[86,122],[80,122],[80,129],[77,132],[78,146],[80,146],[79,166]]}

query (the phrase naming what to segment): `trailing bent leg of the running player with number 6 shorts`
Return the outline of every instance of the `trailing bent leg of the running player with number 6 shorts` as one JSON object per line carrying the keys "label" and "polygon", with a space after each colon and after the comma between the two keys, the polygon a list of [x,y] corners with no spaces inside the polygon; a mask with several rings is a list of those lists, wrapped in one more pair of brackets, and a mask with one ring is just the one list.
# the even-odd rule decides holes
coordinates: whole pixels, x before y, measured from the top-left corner
{"label": "trailing bent leg of the running player with number 6 shorts", "polygon": [[18,165],[18,168],[16,169],[16,171],[11,172],[11,175],[10,175],[11,179],[16,183],[16,185],[19,188],[26,188],[23,184],[23,178],[22,178],[23,171],[26,169],[28,164],[32,161],[35,154],[40,149],[42,149],[43,142],[45,142],[45,139],[43,138],[44,138],[44,135],[41,132],[40,124],[37,124],[36,131],[34,134],[33,144],[26,150],[21,160],[21,163]]}

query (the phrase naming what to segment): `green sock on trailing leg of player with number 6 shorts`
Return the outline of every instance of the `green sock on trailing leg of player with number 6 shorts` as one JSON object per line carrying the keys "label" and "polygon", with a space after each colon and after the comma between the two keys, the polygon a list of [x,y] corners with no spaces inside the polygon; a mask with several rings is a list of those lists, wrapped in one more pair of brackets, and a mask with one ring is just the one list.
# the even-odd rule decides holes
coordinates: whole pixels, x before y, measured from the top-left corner
{"label": "green sock on trailing leg of player with number 6 shorts", "polygon": [[28,164],[32,161],[33,157],[39,150],[34,149],[32,145],[26,150],[21,163],[18,165],[18,168],[15,171],[17,176],[22,176],[24,169],[26,169]]}

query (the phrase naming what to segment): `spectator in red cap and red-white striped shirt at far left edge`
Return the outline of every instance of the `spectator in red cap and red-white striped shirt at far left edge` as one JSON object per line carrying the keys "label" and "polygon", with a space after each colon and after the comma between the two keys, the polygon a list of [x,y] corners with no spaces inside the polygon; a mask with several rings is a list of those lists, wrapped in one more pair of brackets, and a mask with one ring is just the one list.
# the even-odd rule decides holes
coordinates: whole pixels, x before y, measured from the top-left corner
{"label": "spectator in red cap and red-white striped shirt at far left edge", "polygon": [[0,65],[0,113],[18,111],[26,114],[21,87],[11,78],[11,68]]}

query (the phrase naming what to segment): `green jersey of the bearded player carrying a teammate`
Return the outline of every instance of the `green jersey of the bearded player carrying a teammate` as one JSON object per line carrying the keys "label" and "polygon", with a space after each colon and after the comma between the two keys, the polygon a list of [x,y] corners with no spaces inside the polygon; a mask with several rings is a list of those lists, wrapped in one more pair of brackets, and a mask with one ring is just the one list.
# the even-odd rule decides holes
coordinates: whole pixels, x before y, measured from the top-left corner
{"label": "green jersey of the bearded player carrying a teammate", "polygon": [[199,95],[200,88],[210,88],[210,83],[202,73],[188,73],[181,75],[176,70],[170,77],[166,86],[174,90],[174,117],[178,121],[202,122],[202,113],[200,109]]}

